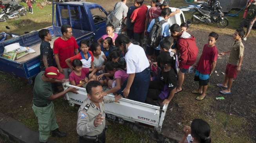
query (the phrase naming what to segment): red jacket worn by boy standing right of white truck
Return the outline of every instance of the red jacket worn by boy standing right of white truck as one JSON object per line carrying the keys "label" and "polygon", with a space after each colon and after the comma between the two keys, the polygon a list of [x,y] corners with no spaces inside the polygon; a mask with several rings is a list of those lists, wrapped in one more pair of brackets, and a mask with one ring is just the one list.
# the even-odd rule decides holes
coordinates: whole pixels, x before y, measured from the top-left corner
{"label": "red jacket worn by boy standing right of white truck", "polygon": [[180,52],[179,68],[188,69],[196,62],[198,55],[198,47],[196,46],[196,38],[187,32],[182,32],[182,35],[177,41],[178,49]]}

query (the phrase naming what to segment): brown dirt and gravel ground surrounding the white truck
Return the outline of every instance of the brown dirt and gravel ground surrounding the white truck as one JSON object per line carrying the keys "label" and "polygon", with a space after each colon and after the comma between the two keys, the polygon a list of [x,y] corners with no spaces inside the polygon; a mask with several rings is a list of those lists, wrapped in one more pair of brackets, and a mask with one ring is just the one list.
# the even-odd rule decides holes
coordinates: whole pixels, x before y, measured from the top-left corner
{"label": "brown dirt and gravel ground surrounding the white truck", "polygon": [[[111,10],[117,0],[91,0],[102,5],[106,10]],[[147,3],[149,3],[147,1]],[[132,5],[133,1],[129,1],[128,5]],[[196,27],[193,25],[193,27]],[[219,29],[218,29],[219,30]],[[196,28],[189,29],[189,32],[196,37],[198,48],[200,52],[198,59],[202,54],[203,45],[207,42],[209,31],[198,30]],[[231,33],[220,34],[217,41],[219,52],[227,51],[232,43]],[[198,87],[198,83],[194,82],[194,74],[186,73],[183,85],[183,91],[174,96],[169,104],[169,109],[165,116],[163,129],[182,133],[184,125],[190,125],[195,118],[202,118],[211,125],[211,138],[214,143],[253,143],[256,142],[256,64],[254,51],[256,45],[256,38],[249,37],[247,41],[243,42],[245,46],[245,57],[242,65],[241,73],[234,81],[232,86],[232,94],[225,95],[225,100],[216,100],[216,97],[222,96],[219,91],[221,88],[216,87],[217,83],[223,82],[224,76],[221,72],[225,72],[228,55],[218,58],[216,71],[210,79],[210,86],[207,91],[207,98],[203,101],[196,101],[196,95],[191,91]],[[16,77],[0,73],[0,112],[19,120],[27,125],[32,130],[37,130],[37,120],[31,110],[32,105],[32,86],[27,82],[22,81]],[[69,137],[67,140],[77,139],[76,134],[76,112],[77,107],[69,107],[67,102],[62,99],[54,101],[57,122],[60,129],[67,131]],[[135,134],[129,132],[127,127],[122,125],[114,125],[107,132],[109,137],[107,142],[112,142],[118,138],[116,142],[139,142],[138,140],[123,139],[123,133],[118,134],[116,130],[127,132],[131,138],[135,136],[137,139],[145,138],[142,134]],[[113,136],[113,134],[116,136]],[[111,135],[111,136],[109,136]],[[125,136],[127,138],[127,136]],[[59,142],[65,142],[57,138],[52,138]],[[144,142],[151,142],[149,138],[143,140]],[[1,143],[1,140],[0,140]]]}

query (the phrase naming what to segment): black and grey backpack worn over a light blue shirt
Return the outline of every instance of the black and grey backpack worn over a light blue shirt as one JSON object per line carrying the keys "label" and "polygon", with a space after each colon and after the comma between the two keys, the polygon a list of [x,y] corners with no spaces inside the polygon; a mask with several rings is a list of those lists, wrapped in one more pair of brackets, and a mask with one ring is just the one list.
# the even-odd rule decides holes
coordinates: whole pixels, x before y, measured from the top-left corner
{"label": "black and grey backpack worn over a light blue shirt", "polygon": [[165,20],[159,21],[158,18],[155,18],[155,23],[150,31],[147,45],[151,48],[156,48],[162,39],[162,25],[166,22]]}

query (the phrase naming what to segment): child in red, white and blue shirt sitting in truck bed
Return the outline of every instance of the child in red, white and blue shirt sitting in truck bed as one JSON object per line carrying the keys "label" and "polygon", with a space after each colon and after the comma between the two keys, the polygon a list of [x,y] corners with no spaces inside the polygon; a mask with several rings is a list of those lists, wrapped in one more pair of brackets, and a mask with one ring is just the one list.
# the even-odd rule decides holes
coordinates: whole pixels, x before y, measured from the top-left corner
{"label": "child in red, white and blue shirt sitting in truck bed", "polygon": [[[65,62],[67,63],[67,66],[69,66],[69,68],[71,70],[73,70],[73,67],[71,66],[71,62],[73,62],[74,59],[80,59],[82,62],[82,67],[83,68],[89,68],[90,72],[93,72],[94,70],[94,65],[93,65],[93,61],[94,61],[94,57],[93,57],[93,52],[91,52],[89,50],[89,41],[87,40],[82,40],[80,42],[80,49],[81,52],[79,52],[77,55],[74,55],[73,57],[70,57],[68,59],[65,60]],[[89,74],[89,79],[93,78],[94,80],[96,80],[96,76],[93,75],[93,73]]]}

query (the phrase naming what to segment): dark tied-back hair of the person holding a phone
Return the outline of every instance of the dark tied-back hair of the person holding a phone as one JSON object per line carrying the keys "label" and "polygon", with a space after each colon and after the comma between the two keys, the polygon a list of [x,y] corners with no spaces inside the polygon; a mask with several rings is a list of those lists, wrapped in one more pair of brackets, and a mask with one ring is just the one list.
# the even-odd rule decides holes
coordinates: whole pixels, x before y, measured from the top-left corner
{"label": "dark tied-back hair of the person holding a phone", "polygon": [[210,125],[202,119],[194,119],[191,123],[191,136],[200,143],[211,143]]}

